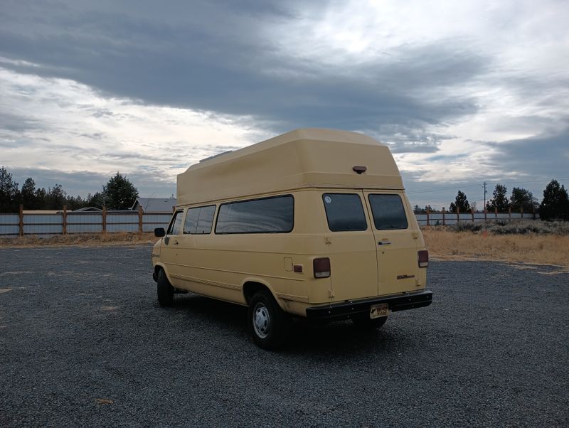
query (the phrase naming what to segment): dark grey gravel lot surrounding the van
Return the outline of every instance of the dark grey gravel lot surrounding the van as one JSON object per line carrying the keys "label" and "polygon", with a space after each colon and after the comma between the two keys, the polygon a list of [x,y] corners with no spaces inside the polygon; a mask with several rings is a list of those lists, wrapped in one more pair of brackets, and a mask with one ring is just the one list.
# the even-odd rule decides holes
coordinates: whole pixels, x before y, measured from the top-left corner
{"label": "dark grey gravel lot surrounding the van", "polygon": [[0,250],[0,426],[569,426],[569,274],[432,262],[431,306],[374,333],[156,303],[151,247]]}

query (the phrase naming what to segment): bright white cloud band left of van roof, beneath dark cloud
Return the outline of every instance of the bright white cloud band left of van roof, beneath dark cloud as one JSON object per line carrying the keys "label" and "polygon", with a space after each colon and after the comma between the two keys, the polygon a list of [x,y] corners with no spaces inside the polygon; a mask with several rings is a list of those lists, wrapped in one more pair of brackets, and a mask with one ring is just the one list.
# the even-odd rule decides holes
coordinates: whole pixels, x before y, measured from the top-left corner
{"label": "bright white cloud band left of van roof, beneath dark cloud", "polygon": [[[72,80],[0,68],[0,82],[1,164],[39,171],[33,178],[43,187],[53,186],[41,181],[53,178],[48,169],[66,171],[68,182],[70,177],[85,180],[121,171],[147,176],[141,182],[149,189],[156,188],[152,180],[169,182],[166,191],[191,164],[248,145],[248,138],[259,133],[250,130],[246,117],[105,98]],[[70,186],[70,192],[95,191],[85,183]]]}

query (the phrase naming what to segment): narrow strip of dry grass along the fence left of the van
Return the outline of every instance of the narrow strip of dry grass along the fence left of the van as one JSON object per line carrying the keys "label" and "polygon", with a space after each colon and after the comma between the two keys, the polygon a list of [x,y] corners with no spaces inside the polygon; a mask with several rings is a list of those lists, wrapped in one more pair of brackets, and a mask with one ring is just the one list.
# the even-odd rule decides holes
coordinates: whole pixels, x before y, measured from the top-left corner
{"label": "narrow strip of dry grass along the fence left of the van", "polygon": [[50,247],[59,245],[80,245],[100,247],[105,245],[139,245],[154,243],[158,238],[154,233],[78,233],[73,235],[55,235],[53,237],[23,236],[0,239],[0,247]]}

